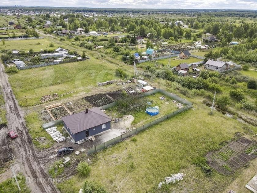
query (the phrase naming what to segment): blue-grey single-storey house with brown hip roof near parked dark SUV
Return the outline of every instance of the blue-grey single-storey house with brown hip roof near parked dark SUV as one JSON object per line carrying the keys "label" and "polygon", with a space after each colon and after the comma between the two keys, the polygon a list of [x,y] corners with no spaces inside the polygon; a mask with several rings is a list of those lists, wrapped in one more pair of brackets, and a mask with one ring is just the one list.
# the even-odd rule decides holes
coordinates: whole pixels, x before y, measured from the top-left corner
{"label": "blue-grey single-storey house with brown hip roof near parked dark SUV", "polygon": [[86,109],[61,118],[64,127],[75,142],[111,128],[111,119],[99,108]]}

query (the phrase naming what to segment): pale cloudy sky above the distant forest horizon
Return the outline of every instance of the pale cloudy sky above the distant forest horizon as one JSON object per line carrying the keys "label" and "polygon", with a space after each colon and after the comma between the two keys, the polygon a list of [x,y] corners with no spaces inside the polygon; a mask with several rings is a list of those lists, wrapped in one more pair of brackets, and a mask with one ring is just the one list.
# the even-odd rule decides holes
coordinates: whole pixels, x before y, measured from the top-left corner
{"label": "pale cloudy sky above the distant forest horizon", "polygon": [[257,0],[1,0],[1,6],[104,7],[148,9],[255,9]]}

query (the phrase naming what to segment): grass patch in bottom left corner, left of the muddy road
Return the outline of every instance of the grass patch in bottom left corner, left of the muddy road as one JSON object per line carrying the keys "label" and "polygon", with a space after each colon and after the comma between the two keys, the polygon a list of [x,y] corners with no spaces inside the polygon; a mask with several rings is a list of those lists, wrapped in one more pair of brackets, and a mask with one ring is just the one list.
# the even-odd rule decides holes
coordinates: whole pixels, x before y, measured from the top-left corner
{"label": "grass patch in bottom left corner, left of the muddy road", "polygon": [[26,178],[24,176],[20,174],[17,175],[17,180],[20,185],[20,191],[18,189],[18,186],[15,184],[15,180],[10,178],[0,183],[0,193],[6,193],[6,192],[30,193],[31,192],[31,190],[26,185]]}

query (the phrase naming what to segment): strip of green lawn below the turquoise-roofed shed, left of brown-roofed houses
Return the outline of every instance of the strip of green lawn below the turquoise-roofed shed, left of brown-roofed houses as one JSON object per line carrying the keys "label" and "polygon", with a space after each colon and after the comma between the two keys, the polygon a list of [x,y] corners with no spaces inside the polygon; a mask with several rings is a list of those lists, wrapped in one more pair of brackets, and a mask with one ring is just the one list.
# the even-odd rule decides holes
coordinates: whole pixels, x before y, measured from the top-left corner
{"label": "strip of green lawn below the turquoise-roofed shed, left of brown-roofed houses", "polygon": [[[193,57],[190,57],[189,59],[178,59],[177,57],[173,57],[173,58],[171,58],[170,66],[173,67],[173,66],[177,66],[180,63],[190,64],[190,63],[199,62],[199,61],[202,61],[202,60],[198,59],[198,58],[193,58]],[[159,65],[163,64],[164,66],[167,66],[168,62],[169,62],[169,59],[160,59],[160,60],[157,60],[156,64],[159,64]],[[137,66],[138,67],[144,67],[144,66],[147,66],[147,65],[155,66],[154,64],[155,63],[148,61],[148,62],[140,63]]]}

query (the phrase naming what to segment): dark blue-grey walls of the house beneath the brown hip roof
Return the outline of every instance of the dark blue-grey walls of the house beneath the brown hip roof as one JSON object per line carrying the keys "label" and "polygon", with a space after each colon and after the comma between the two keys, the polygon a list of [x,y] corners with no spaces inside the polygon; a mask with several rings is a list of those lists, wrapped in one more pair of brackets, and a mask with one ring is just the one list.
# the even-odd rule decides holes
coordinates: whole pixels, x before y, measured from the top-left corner
{"label": "dark blue-grey walls of the house beneath the brown hip roof", "polygon": [[72,134],[71,131],[69,130],[69,128],[67,127],[67,125],[64,123],[65,129],[70,134],[70,136],[74,139],[75,142],[78,142],[78,141],[86,138],[86,131],[89,131],[89,136],[93,136],[93,135],[99,134],[99,133],[101,133],[103,131],[106,131],[106,130],[111,128],[111,122],[110,121],[105,123],[105,125],[106,125],[106,128],[104,128],[104,129],[102,129],[102,125],[98,125],[96,127],[90,128],[88,130],[84,130],[84,131],[80,131],[78,133]]}

